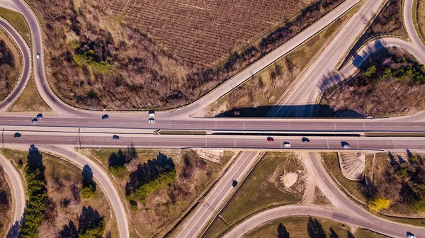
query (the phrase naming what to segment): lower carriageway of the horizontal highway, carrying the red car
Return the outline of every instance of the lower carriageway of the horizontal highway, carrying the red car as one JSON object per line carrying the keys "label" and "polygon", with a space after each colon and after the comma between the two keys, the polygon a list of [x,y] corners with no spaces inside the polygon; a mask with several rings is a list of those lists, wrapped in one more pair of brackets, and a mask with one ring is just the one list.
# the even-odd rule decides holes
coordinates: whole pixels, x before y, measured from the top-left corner
{"label": "lower carriageway of the horizontal highway, carrying the red car", "polygon": [[[25,145],[67,145],[71,147],[154,147],[154,148],[228,148],[228,149],[342,149],[341,142],[347,142],[351,149],[425,149],[425,137],[273,137],[231,135],[111,135],[81,133],[27,132],[22,137],[13,137],[13,132],[4,132],[4,144]],[[290,147],[285,147],[285,142]]]}

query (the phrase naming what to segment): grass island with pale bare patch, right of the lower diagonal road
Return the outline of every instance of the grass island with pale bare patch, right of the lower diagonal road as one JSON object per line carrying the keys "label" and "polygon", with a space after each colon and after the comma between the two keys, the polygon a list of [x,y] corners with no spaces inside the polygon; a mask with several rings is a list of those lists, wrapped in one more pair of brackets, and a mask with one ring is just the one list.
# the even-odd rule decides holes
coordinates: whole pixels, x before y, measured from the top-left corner
{"label": "grass island with pale bare patch, right of the lower diagonal road", "polygon": [[255,212],[299,202],[305,189],[302,168],[295,154],[267,152],[203,237],[216,237]]}

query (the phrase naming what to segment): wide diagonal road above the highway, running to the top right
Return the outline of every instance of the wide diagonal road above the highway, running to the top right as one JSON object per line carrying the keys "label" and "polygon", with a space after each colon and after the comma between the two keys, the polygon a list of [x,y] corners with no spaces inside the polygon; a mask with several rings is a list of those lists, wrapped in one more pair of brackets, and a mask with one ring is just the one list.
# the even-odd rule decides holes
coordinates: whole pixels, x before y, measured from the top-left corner
{"label": "wide diagonal road above the highway, running to the top right", "polygon": [[[305,69],[305,72],[291,86],[288,94],[279,103],[284,106],[273,108],[268,115],[276,117],[312,115],[316,98],[321,92],[324,77],[333,72],[339,60],[346,55],[358,35],[363,33],[369,21],[373,19],[383,1],[385,0],[365,1],[360,10],[336,33],[331,42],[324,47],[314,62]],[[293,107],[288,107],[289,105]]]}

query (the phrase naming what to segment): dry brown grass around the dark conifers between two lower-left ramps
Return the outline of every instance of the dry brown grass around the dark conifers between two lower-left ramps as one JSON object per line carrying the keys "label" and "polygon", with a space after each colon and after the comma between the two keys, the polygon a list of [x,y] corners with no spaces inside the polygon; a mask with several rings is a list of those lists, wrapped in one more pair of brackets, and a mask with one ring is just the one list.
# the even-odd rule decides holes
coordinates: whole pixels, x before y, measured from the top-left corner
{"label": "dry brown grass around the dark conifers between two lower-left ramps", "polygon": [[[28,152],[5,149],[2,153],[14,164],[18,164],[19,159],[26,164]],[[81,169],[45,153],[42,153],[42,164],[45,166],[49,206],[45,220],[38,228],[38,237],[56,237],[69,220],[72,220],[78,227],[81,210],[83,206],[88,207],[89,205],[104,216],[104,237],[109,234],[111,237],[118,237],[115,216],[99,186],[97,186],[96,195],[93,198],[84,200],[79,193],[82,186]],[[23,173],[23,167],[20,171]]]}

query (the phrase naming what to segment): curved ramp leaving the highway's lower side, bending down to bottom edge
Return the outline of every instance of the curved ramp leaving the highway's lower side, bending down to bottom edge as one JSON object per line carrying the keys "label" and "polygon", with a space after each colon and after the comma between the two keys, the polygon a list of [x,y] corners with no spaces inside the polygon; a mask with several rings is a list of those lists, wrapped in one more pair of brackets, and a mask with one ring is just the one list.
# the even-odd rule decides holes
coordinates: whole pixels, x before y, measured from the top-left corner
{"label": "curved ramp leaving the highway's lower side, bending down to bottom edge", "polygon": [[[25,149],[28,148],[29,145],[4,145],[6,148],[11,149]],[[122,201],[120,200],[120,195],[118,194],[115,186],[113,185],[113,181],[111,181],[110,177],[106,173],[106,171],[96,164],[93,160],[85,157],[78,152],[74,152],[73,150],[54,146],[54,145],[35,145],[40,151],[48,152],[50,154],[55,154],[67,161],[79,166],[79,168],[83,169],[84,166],[88,165],[92,172],[94,179],[96,179],[98,185],[101,187],[103,193],[108,199],[111,209],[115,212],[115,219],[118,223],[118,230],[120,232],[120,238],[128,238],[130,237],[130,232],[128,229],[128,220],[127,213],[124,208]],[[25,203],[24,203],[25,204]]]}

